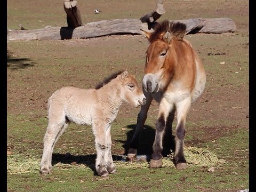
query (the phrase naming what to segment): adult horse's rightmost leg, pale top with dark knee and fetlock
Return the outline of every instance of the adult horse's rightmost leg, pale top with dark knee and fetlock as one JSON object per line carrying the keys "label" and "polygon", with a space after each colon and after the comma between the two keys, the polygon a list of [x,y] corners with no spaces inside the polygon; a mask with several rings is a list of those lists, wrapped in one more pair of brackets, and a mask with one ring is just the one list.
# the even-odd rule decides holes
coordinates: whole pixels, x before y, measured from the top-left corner
{"label": "adult horse's rightmost leg, pale top with dark knee and fetlock", "polygon": [[183,145],[185,138],[185,124],[186,117],[191,106],[191,98],[187,97],[186,99],[176,103],[177,107],[177,126],[175,129],[176,132],[176,143],[175,143],[175,154],[174,154],[174,164],[177,169],[186,169],[187,163],[183,153]]}

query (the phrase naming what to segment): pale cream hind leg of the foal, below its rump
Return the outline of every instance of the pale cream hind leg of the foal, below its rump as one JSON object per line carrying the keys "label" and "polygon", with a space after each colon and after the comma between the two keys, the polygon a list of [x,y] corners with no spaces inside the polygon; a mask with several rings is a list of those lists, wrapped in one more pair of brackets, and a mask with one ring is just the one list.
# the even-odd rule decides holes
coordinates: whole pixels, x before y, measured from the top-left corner
{"label": "pale cream hind leg of the foal, below its rump", "polygon": [[47,130],[44,136],[44,150],[43,150],[43,155],[41,159],[40,172],[42,174],[47,174],[51,170],[50,161],[51,161],[53,146],[64,124],[65,124],[65,118],[62,121],[58,121],[58,122],[50,121],[49,119]]}

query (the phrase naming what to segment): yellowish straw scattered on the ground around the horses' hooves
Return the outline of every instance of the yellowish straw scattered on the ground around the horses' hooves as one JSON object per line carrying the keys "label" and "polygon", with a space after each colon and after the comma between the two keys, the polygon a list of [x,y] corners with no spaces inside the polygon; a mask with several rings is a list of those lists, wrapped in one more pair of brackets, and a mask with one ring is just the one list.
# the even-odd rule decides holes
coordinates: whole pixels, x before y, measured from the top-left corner
{"label": "yellowish straw scattered on the ground around the horses' hooves", "polygon": [[[213,154],[207,148],[185,147],[184,155],[187,160],[188,166],[214,166],[225,163],[223,159],[218,159],[217,155]],[[114,164],[116,167],[124,169],[144,169],[148,168],[149,162],[146,159],[140,161],[126,162],[126,156],[114,155]],[[116,159],[116,160],[115,160]],[[173,164],[173,154],[170,157],[163,157],[162,167],[175,167]],[[95,162],[95,156],[85,157],[80,163],[57,163],[53,165],[53,169],[90,169]],[[90,167],[89,167],[90,165]],[[40,159],[28,155],[8,155],[7,156],[7,173],[8,174],[21,174],[28,172],[39,172]]]}

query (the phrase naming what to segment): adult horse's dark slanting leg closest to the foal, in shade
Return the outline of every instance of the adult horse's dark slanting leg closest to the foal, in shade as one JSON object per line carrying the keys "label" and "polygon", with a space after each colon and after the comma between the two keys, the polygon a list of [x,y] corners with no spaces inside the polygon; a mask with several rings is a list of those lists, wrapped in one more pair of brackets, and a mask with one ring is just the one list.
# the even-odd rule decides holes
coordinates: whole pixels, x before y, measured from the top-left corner
{"label": "adult horse's dark slanting leg closest to the foal, in shade", "polygon": [[130,149],[127,154],[127,161],[134,161],[136,159],[141,130],[148,117],[148,109],[153,100],[153,98],[147,92],[145,92],[144,94],[146,96],[146,104],[141,106],[140,113],[138,114],[137,126],[131,140]]}

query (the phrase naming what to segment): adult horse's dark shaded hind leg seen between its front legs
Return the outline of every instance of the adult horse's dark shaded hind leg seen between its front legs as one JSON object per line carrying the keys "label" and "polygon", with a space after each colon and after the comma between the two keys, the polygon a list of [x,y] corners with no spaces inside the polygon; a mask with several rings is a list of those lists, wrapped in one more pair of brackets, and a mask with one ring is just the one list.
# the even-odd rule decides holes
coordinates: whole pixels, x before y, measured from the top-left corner
{"label": "adult horse's dark shaded hind leg seen between its front legs", "polygon": [[171,110],[169,113],[169,116],[167,117],[166,126],[164,130],[164,136],[163,136],[163,156],[170,155],[171,149],[174,151],[175,149],[175,137],[172,134],[172,123],[175,115],[175,107]]}

